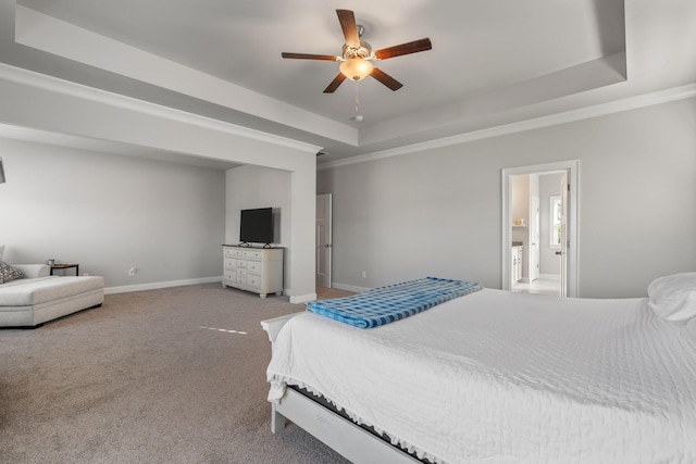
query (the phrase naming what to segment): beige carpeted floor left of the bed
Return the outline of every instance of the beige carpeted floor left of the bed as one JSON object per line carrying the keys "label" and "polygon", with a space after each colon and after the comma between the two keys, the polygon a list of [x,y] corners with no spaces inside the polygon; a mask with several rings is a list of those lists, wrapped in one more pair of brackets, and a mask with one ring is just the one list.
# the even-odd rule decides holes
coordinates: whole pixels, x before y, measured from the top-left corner
{"label": "beige carpeted floor left of the bed", "polygon": [[270,431],[259,323],[302,310],[203,284],[0,329],[0,462],[346,463],[297,426]]}

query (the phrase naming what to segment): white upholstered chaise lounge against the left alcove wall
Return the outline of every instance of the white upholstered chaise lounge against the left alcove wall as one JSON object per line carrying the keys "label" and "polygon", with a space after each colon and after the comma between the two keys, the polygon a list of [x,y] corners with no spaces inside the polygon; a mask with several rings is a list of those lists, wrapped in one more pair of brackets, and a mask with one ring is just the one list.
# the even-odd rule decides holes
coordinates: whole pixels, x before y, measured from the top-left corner
{"label": "white upholstered chaise lounge against the left alcove wall", "polygon": [[23,277],[0,284],[0,327],[38,327],[104,301],[104,279],[51,276],[46,264],[13,264]]}

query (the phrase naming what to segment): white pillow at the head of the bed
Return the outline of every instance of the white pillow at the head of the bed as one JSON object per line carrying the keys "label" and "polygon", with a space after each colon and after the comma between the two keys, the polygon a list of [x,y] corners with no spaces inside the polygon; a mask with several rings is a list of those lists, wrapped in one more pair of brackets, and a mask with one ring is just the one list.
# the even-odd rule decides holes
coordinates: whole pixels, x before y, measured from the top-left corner
{"label": "white pillow at the head of the bed", "polygon": [[667,321],[687,322],[696,316],[696,273],[656,278],[648,286],[648,305]]}

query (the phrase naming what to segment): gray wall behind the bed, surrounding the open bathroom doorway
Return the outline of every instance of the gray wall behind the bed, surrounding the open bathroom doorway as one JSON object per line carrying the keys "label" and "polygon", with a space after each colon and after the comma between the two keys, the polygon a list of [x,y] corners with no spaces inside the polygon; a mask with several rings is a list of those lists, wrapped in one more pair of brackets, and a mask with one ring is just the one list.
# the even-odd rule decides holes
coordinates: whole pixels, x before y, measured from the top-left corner
{"label": "gray wall behind the bed, surrounding the open bathroom doorway", "polygon": [[[336,286],[425,275],[501,284],[500,170],[580,160],[582,297],[696,269],[696,99],[321,170]],[[366,271],[368,277],[361,278]]]}

